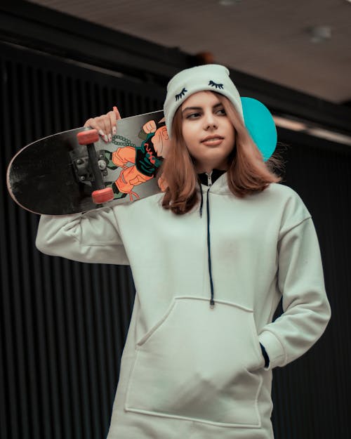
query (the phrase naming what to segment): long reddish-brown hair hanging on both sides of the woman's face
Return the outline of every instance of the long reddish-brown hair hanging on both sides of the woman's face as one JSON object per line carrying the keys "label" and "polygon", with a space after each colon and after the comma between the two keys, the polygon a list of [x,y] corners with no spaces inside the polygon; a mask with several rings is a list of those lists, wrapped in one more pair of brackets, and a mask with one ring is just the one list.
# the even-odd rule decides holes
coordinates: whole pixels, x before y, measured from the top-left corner
{"label": "long reddish-brown hair hanging on both sides of the woman's face", "polygon": [[[223,104],[227,117],[235,129],[235,144],[228,157],[227,183],[230,191],[243,198],[253,192],[262,192],[270,183],[282,180],[274,169],[282,167],[279,158],[272,156],[267,162],[253,142],[244,122],[225,96],[216,93]],[[198,177],[187,150],[182,133],[182,113],[176,111],[172,124],[172,145],[159,169],[159,186],[164,190],[162,207],[174,214],[189,212],[199,201]]]}

